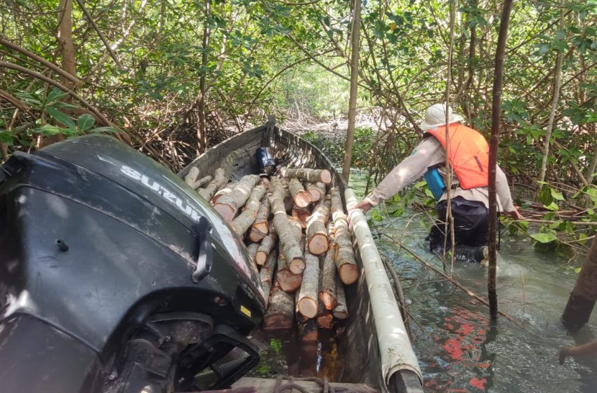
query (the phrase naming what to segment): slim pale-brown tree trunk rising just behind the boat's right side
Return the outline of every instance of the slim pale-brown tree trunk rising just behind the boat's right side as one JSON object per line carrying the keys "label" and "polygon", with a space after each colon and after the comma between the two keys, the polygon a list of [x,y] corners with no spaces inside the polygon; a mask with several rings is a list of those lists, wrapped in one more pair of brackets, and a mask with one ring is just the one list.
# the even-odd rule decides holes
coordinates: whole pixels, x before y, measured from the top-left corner
{"label": "slim pale-brown tree trunk rising just behind the boat's right side", "polygon": [[348,102],[348,131],[344,145],[344,163],[342,177],[348,183],[350,164],[353,161],[353,142],[355,140],[355,116],[357,112],[357,86],[359,84],[359,46],[361,24],[361,0],[353,0],[353,26],[350,33],[350,98]]}

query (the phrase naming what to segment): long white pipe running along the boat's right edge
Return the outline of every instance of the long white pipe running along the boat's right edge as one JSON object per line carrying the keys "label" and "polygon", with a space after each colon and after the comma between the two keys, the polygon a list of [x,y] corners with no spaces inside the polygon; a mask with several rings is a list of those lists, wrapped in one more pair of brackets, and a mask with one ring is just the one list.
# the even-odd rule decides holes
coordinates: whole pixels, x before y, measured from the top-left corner
{"label": "long white pipe running along the boat's right edge", "polygon": [[[344,192],[348,208],[357,204],[355,192],[348,188]],[[367,290],[371,300],[377,343],[381,355],[381,371],[386,384],[391,376],[400,370],[409,370],[423,380],[419,362],[412,350],[398,302],[386,273],[386,268],[375,246],[367,225],[367,219],[360,209],[348,211],[350,227],[357,239],[360,257],[367,279]]]}

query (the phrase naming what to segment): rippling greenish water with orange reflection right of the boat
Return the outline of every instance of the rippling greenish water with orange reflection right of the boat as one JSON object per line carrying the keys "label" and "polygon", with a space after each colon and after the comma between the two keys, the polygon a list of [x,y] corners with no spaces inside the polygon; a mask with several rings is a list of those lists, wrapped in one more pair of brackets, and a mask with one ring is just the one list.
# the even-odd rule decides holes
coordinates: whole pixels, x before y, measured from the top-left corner
{"label": "rippling greenish water with orange reflection right of the boat", "polygon": [[[365,178],[351,173],[350,185],[363,196]],[[424,241],[427,231],[412,219],[384,217],[372,227],[400,239],[424,260],[440,267]],[[597,392],[593,359],[558,364],[558,349],[574,344],[559,320],[577,274],[565,258],[534,250],[523,237],[501,239],[497,272],[499,309],[523,321],[524,328],[489,318],[485,305],[428,271],[388,237],[377,237],[382,255],[393,263],[414,318],[414,352],[426,392]],[[487,293],[487,269],[455,262],[454,275],[478,295]],[[597,326],[597,312],[589,324]],[[595,330],[595,328],[593,328]],[[590,329],[587,329],[590,331]],[[586,342],[589,338],[578,338]]]}

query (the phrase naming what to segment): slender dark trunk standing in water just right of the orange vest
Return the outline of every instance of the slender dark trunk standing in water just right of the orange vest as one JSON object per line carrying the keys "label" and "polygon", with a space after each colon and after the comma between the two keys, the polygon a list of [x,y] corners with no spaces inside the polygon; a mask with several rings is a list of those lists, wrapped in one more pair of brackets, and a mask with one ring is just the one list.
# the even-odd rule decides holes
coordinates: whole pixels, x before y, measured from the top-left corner
{"label": "slender dark trunk standing in water just right of the orange vest", "polygon": [[501,19],[499,22],[499,35],[497,49],[495,51],[495,67],[493,72],[493,98],[492,98],[492,129],[489,158],[489,232],[487,234],[487,245],[489,248],[489,269],[487,271],[487,295],[490,302],[490,314],[497,316],[497,292],[495,288],[496,273],[496,232],[497,232],[497,199],[495,189],[495,174],[497,167],[497,147],[499,145],[499,126],[501,121],[501,79],[502,67],[504,66],[504,51],[506,50],[506,39],[508,36],[508,23],[512,0],[504,0],[501,8]]}

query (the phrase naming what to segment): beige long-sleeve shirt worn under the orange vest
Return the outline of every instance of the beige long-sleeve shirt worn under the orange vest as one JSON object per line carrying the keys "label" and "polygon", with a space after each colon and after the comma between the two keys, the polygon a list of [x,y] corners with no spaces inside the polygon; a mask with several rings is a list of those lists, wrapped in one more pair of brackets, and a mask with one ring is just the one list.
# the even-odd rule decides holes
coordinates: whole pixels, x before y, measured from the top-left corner
{"label": "beige long-sleeve shirt worn under the orange vest", "polygon": [[[373,189],[371,194],[365,197],[365,200],[377,206],[382,201],[391,198],[393,195],[400,192],[404,187],[421,178],[430,166],[442,164],[446,161],[445,150],[440,141],[431,137],[422,140],[417,145],[412,154],[404,159],[400,164],[395,166],[388,175],[381,180],[379,185]],[[514,205],[508,180],[503,171],[497,166],[496,168],[496,190],[497,190],[497,204],[499,211],[513,211]],[[441,171],[440,171],[441,172]],[[445,174],[442,173],[445,182]],[[456,184],[458,179],[452,176],[452,183]],[[450,190],[451,197],[462,196],[468,201],[482,202],[485,207],[489,208],[489,191],[487,187],[478,187],[473,189],[461,189],[455,187]],[[441,196],[440,201],[447,199],[447,195]]]}

